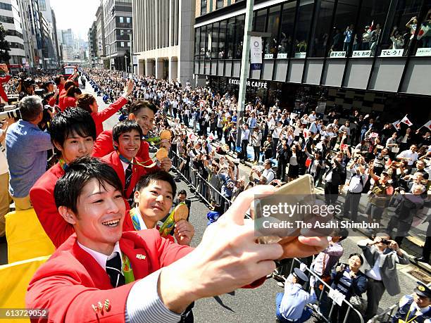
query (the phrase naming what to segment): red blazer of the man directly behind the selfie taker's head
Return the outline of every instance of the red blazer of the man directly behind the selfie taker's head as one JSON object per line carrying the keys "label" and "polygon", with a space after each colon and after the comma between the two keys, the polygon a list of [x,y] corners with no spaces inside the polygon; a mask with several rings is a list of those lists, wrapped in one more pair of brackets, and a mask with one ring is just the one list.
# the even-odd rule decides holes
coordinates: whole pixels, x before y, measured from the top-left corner
{"label": "red blazer of the man directly behind the selfie taker's head", "polygon": [[[54,186],[57,180],[64,175],[64,170],[59,163],[49,168],[42,175],[32,189],[30,189],[30,200],[40,224],[44,228],[46,235],[49,236],[54,246],[58,248],[70,234],[75,230],[68,222],[65,222],[63,217],[58,213],[56,201],[54,199]],[[125,201],[127,210],[130,208],[129,203]],[[126,210],[126,213],[127,213]],[[128,213],[127,213],[128,214]],[[125,221],[123,231],[134,230],[132,220]]]}

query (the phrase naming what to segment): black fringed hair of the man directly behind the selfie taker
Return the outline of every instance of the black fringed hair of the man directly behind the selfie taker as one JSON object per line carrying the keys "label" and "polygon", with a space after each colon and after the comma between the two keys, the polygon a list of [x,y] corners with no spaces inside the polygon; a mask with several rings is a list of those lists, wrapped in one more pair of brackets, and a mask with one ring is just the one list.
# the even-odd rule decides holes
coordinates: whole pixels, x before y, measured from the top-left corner
{"label": "black fringed hair of the man directly behind the selfie taker", "polygon": [[51,141],[63,146],[64,141],[75,134],[96,140],[96,125],[92,115],[82,108],[68,108],[57,113],[49,124]]}

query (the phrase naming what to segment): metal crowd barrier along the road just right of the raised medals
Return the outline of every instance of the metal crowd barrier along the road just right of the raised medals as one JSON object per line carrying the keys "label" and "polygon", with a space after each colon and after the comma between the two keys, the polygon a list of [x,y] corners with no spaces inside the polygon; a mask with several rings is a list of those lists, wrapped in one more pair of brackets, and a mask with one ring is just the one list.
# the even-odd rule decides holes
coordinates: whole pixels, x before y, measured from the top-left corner
{"label": "metal crowd barrier along the road just right of the raised medals", "polygon": [[170,159],[172,160],[173,168],[177,172],[178,176],[184,179],[189,184],[192,193],[195,194],[196,198],[204,201],[204,203],[211,205],[211,201],[223,205],[223,213],[230,207],[232,202],[223,196],[218,188],[221,183],[215,175],[211,176],[211,179],[205,179],[199,170],[196,170],[192,163],[187,165],[187,160],[178,156],[178,154],[170,149]]}

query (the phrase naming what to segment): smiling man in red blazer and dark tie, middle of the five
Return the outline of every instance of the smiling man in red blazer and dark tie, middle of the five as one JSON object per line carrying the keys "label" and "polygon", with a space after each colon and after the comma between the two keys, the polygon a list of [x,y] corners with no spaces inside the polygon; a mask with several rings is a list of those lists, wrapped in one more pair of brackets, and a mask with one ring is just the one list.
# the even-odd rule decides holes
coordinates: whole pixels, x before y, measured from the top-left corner
{"label": "smiling man in red blazer and dark tie, middle of the five", "polygon": [[[144,163],[148,160],[142,160],[137,156],[141,146],[142,130],[137,122],[124,120],[113,127],[112,137],[115,151],[104,156],[101,160],[113,167],[123,185],[123,197],[132,206],[136,183],[142,175],[146,174],[148,169],[144,167]],[[126,180],[129,168],[131,173],[129,179]]]}

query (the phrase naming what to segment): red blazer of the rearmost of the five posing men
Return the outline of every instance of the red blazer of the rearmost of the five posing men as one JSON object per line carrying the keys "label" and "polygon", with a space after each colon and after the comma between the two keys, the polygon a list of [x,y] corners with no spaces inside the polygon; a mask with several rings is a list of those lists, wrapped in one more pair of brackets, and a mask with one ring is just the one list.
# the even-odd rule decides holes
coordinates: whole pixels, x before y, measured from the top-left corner
{"label": "red blazer of the rearmost of the five posing men", "polygon": [[[96,141],[94,141],[92,156],[101,158],[108,155],[108,153],[111,153],[112,151],[114,151],[112,141],[112,129],[105,130],[104,132],[99,134]],[[144,163],[145,165],[150,165],[151,163],[153,163],[153,160],[150,160],[149,156],[148,142],[144,140],[141,141],[141,148],[139,148],[137,157],[141,158],[141,160],[144,160],[146,162]],[[160,169],[160,167],[158,167],[157,165],[151,168],[146,168],[148,172],[154,172],[158,169]]]}

